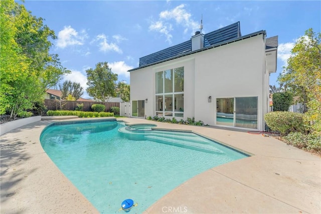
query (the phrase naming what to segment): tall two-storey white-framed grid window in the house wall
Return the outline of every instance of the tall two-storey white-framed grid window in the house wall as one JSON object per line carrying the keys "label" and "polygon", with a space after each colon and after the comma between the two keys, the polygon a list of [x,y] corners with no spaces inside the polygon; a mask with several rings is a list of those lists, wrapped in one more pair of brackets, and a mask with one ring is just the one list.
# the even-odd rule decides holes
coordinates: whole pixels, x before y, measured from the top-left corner
{"label": "tall two-storey white-framed grid window in the house wall", "polygon": [[184,117],[184,67],[156,72],[157,116]]}

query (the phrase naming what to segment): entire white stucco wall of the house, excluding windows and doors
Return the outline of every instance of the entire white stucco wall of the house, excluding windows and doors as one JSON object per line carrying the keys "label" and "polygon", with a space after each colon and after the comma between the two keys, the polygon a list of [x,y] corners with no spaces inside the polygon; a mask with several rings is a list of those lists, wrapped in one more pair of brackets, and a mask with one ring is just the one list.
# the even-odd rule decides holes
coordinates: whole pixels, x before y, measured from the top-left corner
{"label": "entire white stucco wall of the house, excluding windows and doors", "polygon": [[195,117],[216,125],[216,98],[258,97],[258,129],[263,130],[269,83],[264,37],[258,35],[131,71],[130,100],[147,98],[145,115],[154,116],[155,73],[184,66],[184,120]]}

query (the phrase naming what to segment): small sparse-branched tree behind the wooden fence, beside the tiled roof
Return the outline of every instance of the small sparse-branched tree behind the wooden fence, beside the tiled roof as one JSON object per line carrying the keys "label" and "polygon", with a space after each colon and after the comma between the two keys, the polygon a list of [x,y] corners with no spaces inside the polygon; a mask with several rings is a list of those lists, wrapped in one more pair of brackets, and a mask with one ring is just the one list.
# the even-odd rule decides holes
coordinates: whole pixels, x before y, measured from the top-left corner
{"label": "small sparse-branched tree behind the wooden fence, beside the tiled roof", "polygon": [[84,89],[80,86],[80,83],[71,82],[70,80],[66,80],[63,84],[60,84],[59,89],[63,100],[67,98],[67,100],[78,100],[84,93]]}

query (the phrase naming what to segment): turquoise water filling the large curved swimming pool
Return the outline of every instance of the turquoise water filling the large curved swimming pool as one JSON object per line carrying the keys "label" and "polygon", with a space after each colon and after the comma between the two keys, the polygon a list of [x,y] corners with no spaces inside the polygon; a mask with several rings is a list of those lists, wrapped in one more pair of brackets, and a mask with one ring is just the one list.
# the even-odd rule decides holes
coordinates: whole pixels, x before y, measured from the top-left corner
{"label": "turquoise water filling the large curved swimming pool", "polygon": [[[140,131],[139,131],[140,130]],[[101,213],[141,213],[189,178],[247,155],[193,133],[126,129],[116,121],[54,123],[41,144],[68,179]]]}

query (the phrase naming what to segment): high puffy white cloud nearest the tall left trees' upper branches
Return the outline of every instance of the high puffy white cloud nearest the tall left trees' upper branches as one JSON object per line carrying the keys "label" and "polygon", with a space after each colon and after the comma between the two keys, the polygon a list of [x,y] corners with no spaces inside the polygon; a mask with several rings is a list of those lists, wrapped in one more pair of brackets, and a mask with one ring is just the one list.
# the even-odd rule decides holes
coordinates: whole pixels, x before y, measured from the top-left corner
{"label": "high puffy white cloud nearest the tall left trees' upper branches", "polygon": [[71,26],[65,26],[64,30],[58,33],[57,47],[65,48],[67,46],[83,45],[87,37],[85,30],[82,30],[79,34]]}

